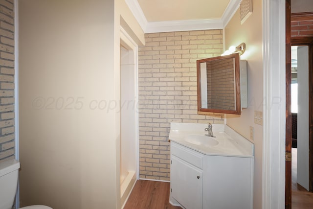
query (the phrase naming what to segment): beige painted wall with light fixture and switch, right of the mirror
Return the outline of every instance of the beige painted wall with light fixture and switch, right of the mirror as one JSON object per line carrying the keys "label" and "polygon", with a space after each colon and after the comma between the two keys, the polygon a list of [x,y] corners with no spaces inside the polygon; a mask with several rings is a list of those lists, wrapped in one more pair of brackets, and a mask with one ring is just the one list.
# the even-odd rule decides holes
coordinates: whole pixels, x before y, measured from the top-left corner
{"label": "beige painted wall with light fixture and switch, right of the mirror", "polygon": [[226,123],[249,139],[249,127],[254,127],[254,209],[262,207],[262,126],[254,123],[254,111],[263,109],[263,58],[262,58],[262,0],[253,0],[253,13],[240,23],[239,11],[225,27],[225,46],[246,43],[241,59],[247,60],[248,108],[241,116],[227,115]]}

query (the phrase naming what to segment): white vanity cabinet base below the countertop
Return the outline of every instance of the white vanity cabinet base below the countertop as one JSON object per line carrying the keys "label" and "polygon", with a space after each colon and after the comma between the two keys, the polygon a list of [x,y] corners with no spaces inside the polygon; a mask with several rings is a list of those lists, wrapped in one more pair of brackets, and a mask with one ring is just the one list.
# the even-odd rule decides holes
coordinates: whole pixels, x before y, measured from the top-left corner
{"label": "white vanity cabinet base below the countertop", "polygon": [[170,201],[185,209],[252,209],[253,158],[206,155],[171,141]]}

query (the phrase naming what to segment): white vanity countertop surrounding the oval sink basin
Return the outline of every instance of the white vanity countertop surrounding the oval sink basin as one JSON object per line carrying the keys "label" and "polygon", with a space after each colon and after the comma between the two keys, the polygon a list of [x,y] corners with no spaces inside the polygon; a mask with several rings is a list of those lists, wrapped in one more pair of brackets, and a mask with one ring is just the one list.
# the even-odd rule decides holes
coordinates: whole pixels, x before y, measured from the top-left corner
{"label": "white vanity countertop surrounding the oval sink basin", "polygon": [[207,126],[199,123],[171,123],[169,139],[204,155],[254,158],[254,144],[224,124],[212,124],[216,136],[212,139],[219,142],[217,145],[203,146],[185,140],[191,135],[204,136],[207,133],[204,128]]}

